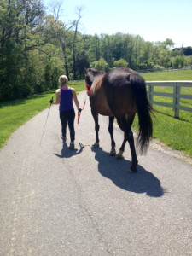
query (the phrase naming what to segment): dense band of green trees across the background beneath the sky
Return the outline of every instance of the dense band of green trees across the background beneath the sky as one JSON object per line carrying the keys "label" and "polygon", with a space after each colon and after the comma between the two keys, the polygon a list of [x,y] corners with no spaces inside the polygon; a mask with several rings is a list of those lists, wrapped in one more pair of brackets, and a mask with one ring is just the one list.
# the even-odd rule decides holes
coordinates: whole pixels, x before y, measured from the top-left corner
{"label": "dense band of green trees across the background beneath the sky", "polygon": [[0,101],[25,97],[58,86],[58,77],[82,79],[84,67],[162,69],[183,67],[191,47],[172,50],[171,39],[145,42],[116,33],[91,36],[79,32],[77,20],[59,20],[59,7],[46,15],[41,0],[0,2]]}

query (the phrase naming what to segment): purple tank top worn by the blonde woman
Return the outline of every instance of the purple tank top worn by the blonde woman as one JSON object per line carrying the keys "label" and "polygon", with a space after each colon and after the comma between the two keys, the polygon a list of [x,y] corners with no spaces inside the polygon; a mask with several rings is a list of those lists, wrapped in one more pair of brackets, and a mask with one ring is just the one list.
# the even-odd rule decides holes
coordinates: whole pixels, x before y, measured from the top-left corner
{"label": "purple tank top worn by the blonde woman", "polygon": [[73,108],[73,92],[71,88],[64,90],[61,88],[61,102],[60,102],[60,112],[72,110]]}

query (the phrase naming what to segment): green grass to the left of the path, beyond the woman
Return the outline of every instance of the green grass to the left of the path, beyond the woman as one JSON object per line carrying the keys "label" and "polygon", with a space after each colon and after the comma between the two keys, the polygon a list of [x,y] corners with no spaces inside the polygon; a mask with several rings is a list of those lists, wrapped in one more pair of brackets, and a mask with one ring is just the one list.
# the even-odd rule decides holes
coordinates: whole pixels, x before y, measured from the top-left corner
{"label": "green grass to the left of the path, beyond the woman", "polygon": [[[84,90],[84,81],[70,81],[69,86],[75,88],[78,92]],[[55,90],[49,90],[39,95],[29,96],[26,99],[20,99],[0,103],[0,148],[9,139],[12,132],[23,125],[33,116],[49,108],[49,100],[55,98]]]}

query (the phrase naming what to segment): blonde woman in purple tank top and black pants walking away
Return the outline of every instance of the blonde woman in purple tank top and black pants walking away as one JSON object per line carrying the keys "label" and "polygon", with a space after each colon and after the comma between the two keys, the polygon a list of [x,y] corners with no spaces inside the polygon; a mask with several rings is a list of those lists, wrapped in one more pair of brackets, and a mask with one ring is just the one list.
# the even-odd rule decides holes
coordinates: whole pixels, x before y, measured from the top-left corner
{"label": "blonde woman in purple tank top and black pants walking away", "polygon": [[75,140],[75,131],[74,131],[74,119],[75,112],[73,108],[73,100],[75,102],[78,111],[81,112],[81,108],[79,108],[79,101],[76,95],[76,92],[73,88],[67,86],[67,76],[61,75],[59,78],[59,83],[61,84],[61,88],[55,91],[56,101],[50,100],[52,104],[60,104],[60,119],[61,119],[61,138],[63,143],[66,143],[66,129],[67,123],[70,132],[71,143],[69,148],[74,149],[74,140]]}

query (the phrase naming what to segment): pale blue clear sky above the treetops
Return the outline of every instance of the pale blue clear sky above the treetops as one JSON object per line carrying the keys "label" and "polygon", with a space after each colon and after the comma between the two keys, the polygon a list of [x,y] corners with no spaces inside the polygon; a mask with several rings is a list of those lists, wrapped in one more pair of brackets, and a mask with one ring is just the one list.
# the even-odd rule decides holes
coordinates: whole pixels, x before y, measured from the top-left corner
{"label": "pale blue clear sky above the treetops", "polygon": [[[51,0],[42,0],[48,7]],[[172,39],[175,47],[192,46],[192,0],[58,0],[60,20],[77,19],[83,8],[80,32],[139,35],[145,41]],[[55,1],[54,1],[55,2]]]}

